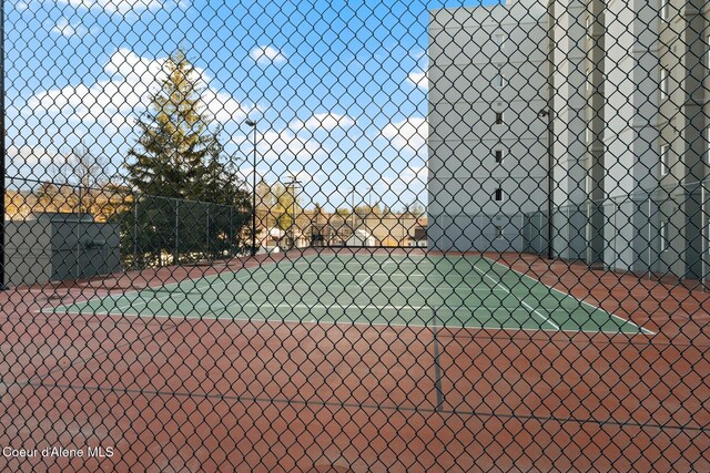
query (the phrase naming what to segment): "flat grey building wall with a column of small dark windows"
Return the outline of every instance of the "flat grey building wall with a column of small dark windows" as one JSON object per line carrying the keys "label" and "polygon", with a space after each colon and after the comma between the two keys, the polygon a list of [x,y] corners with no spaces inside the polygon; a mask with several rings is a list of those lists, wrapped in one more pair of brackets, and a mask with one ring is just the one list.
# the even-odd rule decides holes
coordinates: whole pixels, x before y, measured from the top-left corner
{"label": "flat grey building wall with a column of small dark windows", "polygon": [[523,213],[547,198],[547,38],[536,0],[430,12],[432,248],[528,246]]}

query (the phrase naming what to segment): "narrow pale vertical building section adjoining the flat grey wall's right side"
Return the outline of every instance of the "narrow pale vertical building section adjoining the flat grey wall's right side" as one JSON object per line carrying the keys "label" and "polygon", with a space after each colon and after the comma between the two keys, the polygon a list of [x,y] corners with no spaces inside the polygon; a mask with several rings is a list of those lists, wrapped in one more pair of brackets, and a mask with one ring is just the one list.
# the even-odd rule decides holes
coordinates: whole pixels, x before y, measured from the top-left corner
{"label": "narrow pale vertical building section adjoining the flat grey wall's right side", "polygon": [[600,260],[604,247],[602,214],[591,205],[604,197],[602,8],[602,0],[548,3],[552,251],[567,259]]}

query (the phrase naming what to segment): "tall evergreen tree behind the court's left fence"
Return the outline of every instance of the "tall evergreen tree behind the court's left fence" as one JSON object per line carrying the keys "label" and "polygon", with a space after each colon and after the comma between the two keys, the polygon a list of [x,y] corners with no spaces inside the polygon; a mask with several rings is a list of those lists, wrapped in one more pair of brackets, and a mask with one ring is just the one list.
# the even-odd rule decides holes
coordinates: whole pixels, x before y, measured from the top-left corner
{"label": "tall evergreen tree behind the court's left fence", "polygon": [[[125,214],[124,235],[141,229],[140,238],[132,238],[146,241],[132,258],[160,261],[161,254],[172,253],[178,264],[181,255],[195,259],[239,251],[247,241],[250,194],[236,169],[221,162],[220,127],[211,126],[194,65],[178,51],[164,69],[149,110],[136,123],[140,138],[129,152],[133,162],[126,165],[128,181],[136,192],[136,212]],[[144,257],[145,251],[152,256]]]}

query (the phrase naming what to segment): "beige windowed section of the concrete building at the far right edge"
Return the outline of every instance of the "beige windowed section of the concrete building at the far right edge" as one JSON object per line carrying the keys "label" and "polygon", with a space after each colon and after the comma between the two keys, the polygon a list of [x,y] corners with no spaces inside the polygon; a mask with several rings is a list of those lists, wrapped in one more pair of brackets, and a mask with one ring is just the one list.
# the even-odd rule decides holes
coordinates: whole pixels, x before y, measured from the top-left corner
{"label": "beige windowed section of the concrete building at the far right edge", "polygon": [[662,0],[660,9],[658,228],[666,241],[659,270],[708,278],[710,6],[707,0]]}

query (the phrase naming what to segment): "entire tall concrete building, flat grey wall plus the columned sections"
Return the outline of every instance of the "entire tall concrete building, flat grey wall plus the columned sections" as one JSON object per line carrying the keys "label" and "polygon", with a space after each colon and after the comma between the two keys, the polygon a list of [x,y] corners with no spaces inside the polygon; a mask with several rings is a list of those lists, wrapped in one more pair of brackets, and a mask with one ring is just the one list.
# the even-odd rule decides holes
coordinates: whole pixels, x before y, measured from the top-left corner
{"label": "entire tall concrete building, flat grey wall plus the columned sections", "polygon": [[[466,199],[467,214],[489,214],[477,187],[447,187],[448,174],[442,171],[449,166],[448,160],[459,165],[460,158],[452,152],[460,146],[457,140],[470,142],[468,148],[486,147],[493,127],[484,123],[480,131],[478,122],[459,116],[464,123],[454,133],[449,122],[457,119],[442,115],[449,106],[447,94],[458,93],[458,106],[466,109],[469,102],[473,109],[476,102],[471,99],[479,100],[490,82],[483,71],[495,70],[499,63],[496,54],[476,49],[484,33],[470,29],[503,29],[509,34],[507,54],[525,54],[529,61],[519,65],[511,63],[509,72],[525,78],[530,91],[523,95],[518,85],[513,95],[501,97],[521,99],[514,105],[520,115],[546,109],[551,137],[547,147],[548,133],[534,121],[529,126],[511,126],[505,136],[511,150],[507,156],[514,162],[537,162],[542,172],[549,162],[552,176],[548,187],[541,174],[530,171],[519,186],[523,195],[509,194],[500,207],[510,222],[519,218],[523,225],[517,236],[514,226],[507,227],[508,248],[545,253],[532,244],[531,235],[539,230],[547,235],[542,228],[548,215],[545,200],[551,188],[548,249],[554,256],[619,270],[707,278],[709,4],[706,0],[508,0],[493,8],[433,11],[430,78],[438,80],[432,81],[429,92],[432,217],[436,219],[447,204]],[[517,14],[520,7],[524,13]],[[532,20],[538,28],[530,25]],[[521,22],[518,28],[511,24],[516,21]],[[446,69],[453,56],[445,51],[455,47],[454,38],[468,38],[469,44],[459,41],[458,47],[477,51],[470,54],[477,68],[458,75]],[[547,61],[537,56],[538,51]],[[544,82],[531,72],[534,64],[545,74]],[[466,72],[470,73],[464,75]],[[532,100],[526,102],[528,96]],[[541,146],[525,145],[531,142]],[[474,167],[480,173],[473,174],[469,184],[496,178],[495,173],[485,174],[479,156],[473,154]],[[531,194],[527,194],[529,188]],[[440,223],[440,233],[430,233],[429,245],[452,249],[446,235],[458,235],[463,225]],[[455,247],[505,249],[480,235],[459,238]]]}

